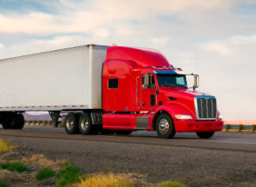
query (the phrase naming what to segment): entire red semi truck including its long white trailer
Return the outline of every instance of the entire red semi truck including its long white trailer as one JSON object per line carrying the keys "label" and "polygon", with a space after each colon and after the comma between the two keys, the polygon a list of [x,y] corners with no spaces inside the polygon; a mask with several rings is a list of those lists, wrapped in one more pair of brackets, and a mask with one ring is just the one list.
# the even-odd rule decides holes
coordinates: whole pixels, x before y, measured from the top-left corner
{"label": "entire red semi truck including its long white trailer", "polygon": [[[22,68],[45,75],[21,75]],[[22,128],[24,111],[49,111],[55,124],[65,112],[67,133],[148,130],[166,139],[176,132],[208,139],[223,128],[216,98],[195,90],[198,75],[185,74],[153,49],[90,44],[2,59],[0,70],[3,128]],[[6,85],[11,72],[20,79]],[[187,76],[194,77],[193,88]]]}

